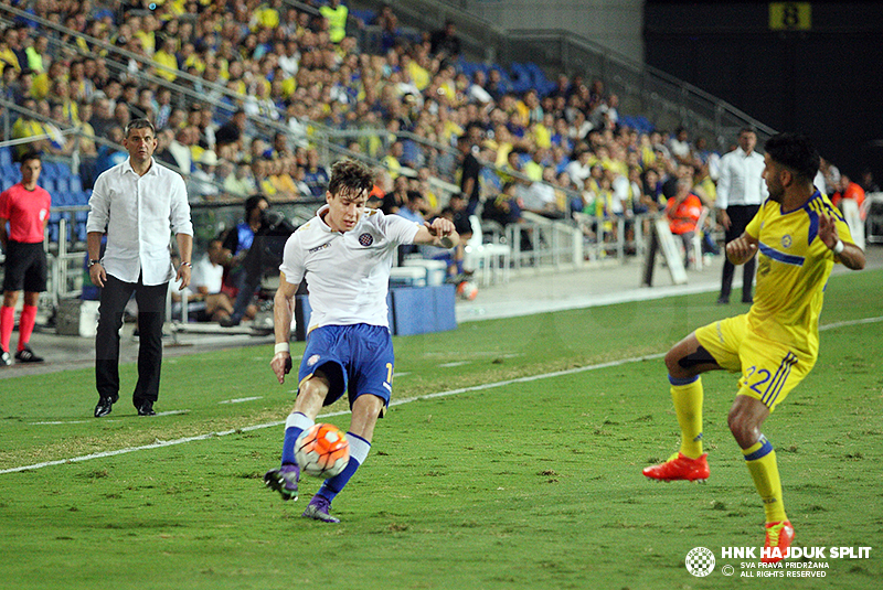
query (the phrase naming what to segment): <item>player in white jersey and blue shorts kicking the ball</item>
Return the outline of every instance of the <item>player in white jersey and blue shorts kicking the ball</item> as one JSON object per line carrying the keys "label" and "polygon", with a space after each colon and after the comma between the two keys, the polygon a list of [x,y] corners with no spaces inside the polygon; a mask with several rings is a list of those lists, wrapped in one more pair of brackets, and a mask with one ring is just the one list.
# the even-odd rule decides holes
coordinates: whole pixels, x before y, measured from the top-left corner
{"label": "player in white jersey and blue shorts kicking the ball", "polygon": [[331,501],[368,458],[374,426],[390,404],[395,360],[386,293],[396,248],[401,244],[450,248],[459,240],[448,219],[436,217],[421,225],[366,210],[372,187],[371,171],[360,162],[341,160],[332,167],[327,204],[285,244],[274,299],[276,351],[270,368],[279,384],[291,368],[292,303],[305,279],[312,308],[297,399],[285,425],[281,466],[264,475],[264,483],[283,500],[297,500],[298,436],[316,422],[322,406],[349,394],[350,462],[322,483],[304,512],[305,517],[326,523],[339,522],[329,514]]}

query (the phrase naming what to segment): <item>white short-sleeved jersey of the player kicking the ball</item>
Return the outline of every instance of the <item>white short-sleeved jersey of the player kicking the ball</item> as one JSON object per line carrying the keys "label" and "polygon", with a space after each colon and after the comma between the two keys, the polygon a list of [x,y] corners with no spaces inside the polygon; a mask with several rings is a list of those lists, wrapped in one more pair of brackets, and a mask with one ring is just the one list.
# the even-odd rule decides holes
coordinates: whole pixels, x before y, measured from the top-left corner
{"label": "white short-sleeved jersey of the player kicking the ball", "polygon": [[389,326],[386,293],[400,244],[413,244],[419,224],[379,210],[365,211],[349,232],[334,232],[316,217],[285,243],[279,270],[285,280],[307,279],[312,312],[309,329],[365,323]]}

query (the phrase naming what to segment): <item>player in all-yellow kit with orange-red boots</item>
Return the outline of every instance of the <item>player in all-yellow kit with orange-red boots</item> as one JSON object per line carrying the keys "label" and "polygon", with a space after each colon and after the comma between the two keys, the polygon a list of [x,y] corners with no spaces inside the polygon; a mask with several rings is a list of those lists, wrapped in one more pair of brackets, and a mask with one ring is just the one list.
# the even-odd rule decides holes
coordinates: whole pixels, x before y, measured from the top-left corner
{"label": "player in all-yellow kit with orange-red boots", "polygon": [[795,533],[785,514],[776,452],[760,426],[816,363],[819,313],[834,262],[860,270],[865,261],[843,217],[813,187],[818,169],[819,154],[806,137],[779,133],[767,141],[764,179],[769,199],[742,236],[726,246],[734,265],[758,257],[754,304],[746,314],[698,329],[666,355],[681,448],[664,463],[643,470],[662,481],[709,478],[700,375],[740,372],[727,422],[764,503],[762,560],[767,562],[786,555]]}

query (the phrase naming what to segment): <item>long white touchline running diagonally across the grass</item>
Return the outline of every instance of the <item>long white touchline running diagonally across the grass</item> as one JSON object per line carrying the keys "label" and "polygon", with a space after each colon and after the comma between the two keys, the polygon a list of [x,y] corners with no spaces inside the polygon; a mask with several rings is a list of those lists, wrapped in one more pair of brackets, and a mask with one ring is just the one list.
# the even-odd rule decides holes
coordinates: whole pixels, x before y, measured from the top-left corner
{"label": "long white touchline running diagonally across the grass", "polygon": [[[834,322],[834,323],[831,323],[831,324],[827,324],[827,325],[820,326],[819,330],[822,330],[822,331],[823,330],[834,330],[837,328],[843,328],[843,326],[848,326],[848,325],[870,324],[870,323],[877,323],[877,322],[881,322],[881,321],[883,321],[883,317],[880,317],[880,318],[864,318],[864,319],[861,319],[861,320],[849,320],[849,321],[844,321],[844,322]],[[587,371],[598,371],[598,369],[602,369],[602,368],[610,368],[610,367],[616,367],[616,366],[623,366],[623,365],[628,365],[628,364],[631,364],[631,363],[640,363],[640,362],[643,362],[643,361],[655,361],[657,358],[662,358],[663,356],[664,356],[664,353],[650,354],[650,355],[643,355],[643,356],[636,356],[636,357],[632,357],[632,358],[621,358],[619,361],[609,361],[607,363],[599,363],[599,364],[596,364],[596,365],[588,365],[588,366],[584,366],[584,367],[568,368],[568,369],[565,369],[565,371],[554,371],[552,373],[543,373],[541,375],[531,375],[529,377],[518,377],[515,379],[507,379],[507,380],[496,382],[496,383],[486,383],[483,385],[472,385],[470,387],[460,387],[458,389],[448,389],[446,391],[437,391],[435,394],[427,394],[427,395],[424,395],[424,396],[408,397],[408,398],[404,398],[404,399],[392,401],[391,405],[392,406],[398,406],[398,405],[402,405],[402,404],[409,404],[412,401],[417,401],[419,399],[435,399],[435,398],[438,398],[438,397],[454,396],[454,395],[458,395],[458,394],[466,394],[466,393],[469,393],[469,391],[481,391],[481,390],[485,390],[485,389],[494,389],[497,387],[506,387],[507,385],[513,385],[513,384],[518,384],[518,383],[531,383],[531,382],[535,382],[535,380],[554,378],[554,377],[562,377],[562,376],[566,376],[566,375],[576,375],[578,373],[585,373]],[[349,410],[340,410],[340,411],[323,414],[323,415],[320,415],[319,418],[331,418],[331,417],[334,417],[334,416],[342,416],[344,414],[349,414]],[[164,448],[164,447],[174,447],[175,444],[184,444],[187,442],[194,442],[194,441],[198,441],[198,440],[208,440],[208,439],[215,438],[215,437],[226,437],[228,435],[236,435],[236,433],[241,433],[241,432],[249,432],[252,430],[259,430],[259,429],[263,429],[263,428],[273,428],[273,427],[281,426],[284,423],[285,423],[285,420],[277,420],[277,421],[273,421],[273,422],[266,422],[266,423],[263,423],[263,425],[246,426],[246,427],[243,427],[243,428],[235,428],[235,429],[231,429],[231,430],[222,430],[220,432],[210,432],[208,435],[200,435],[200,436],[196,436],[196,437],[184,437],[184,438],[174,439],[174,440],[157,440],[153,443],[142,444],[140,447],[129,447],[129,448],[126,448],[126,449],[118,449],[118,450],[115,450],[115,451],[103,451],[103,452],[98,452],[98,453],[84,454],[84,455],[81,455],[81,457],[73,457],[71,459],[58,459],[58,460],[55,460],[55,461],[45,461],[45,462],[42,462],[42,463],[34,463],[34,464],[31,464],[31,465],[22,465],[22,466],[18,466],[18,468],[3,469],[3,470],[0,470],[0,475],[2,475],[4,473],[15,473],[15,472],[20,472],[20,471],[29,471],[29,470],[42,469],[42,468],[47,468],[47,466],[53,466],[53,465],[64,465],[66,463],[79,463],[79,462],[83,462],[83,461],[91,461],[93,459],[103,459],[103,458],[106,458],[106,457],[115,457],[115,455],[118,455],[118,454],[126,454],[126,453],[131,453],[131,452],[136,452],[136,451],[147,451],[147,450],[150,450],[150,449],[161,449],[161,448]]]}

